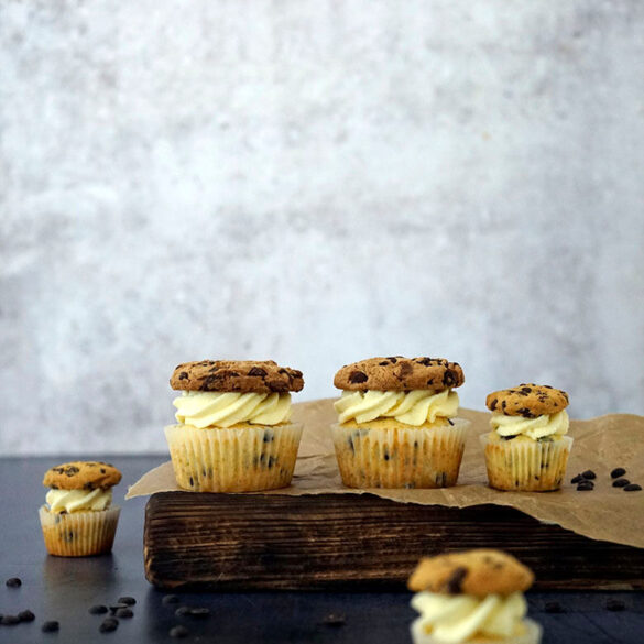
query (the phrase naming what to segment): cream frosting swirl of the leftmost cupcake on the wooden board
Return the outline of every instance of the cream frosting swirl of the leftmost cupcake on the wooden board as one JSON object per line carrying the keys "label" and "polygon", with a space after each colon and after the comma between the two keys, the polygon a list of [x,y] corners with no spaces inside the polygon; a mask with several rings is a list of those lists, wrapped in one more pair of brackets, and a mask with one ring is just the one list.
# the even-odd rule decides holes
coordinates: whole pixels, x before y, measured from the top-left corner
{"label": "cream frosting swirl of the leftmost cupcake on the wooden board", "polygon": [[176,419],[194,427],[230,427],[237,423],[277,425],[291,418],[288,393],[184,391],[173,403]]}

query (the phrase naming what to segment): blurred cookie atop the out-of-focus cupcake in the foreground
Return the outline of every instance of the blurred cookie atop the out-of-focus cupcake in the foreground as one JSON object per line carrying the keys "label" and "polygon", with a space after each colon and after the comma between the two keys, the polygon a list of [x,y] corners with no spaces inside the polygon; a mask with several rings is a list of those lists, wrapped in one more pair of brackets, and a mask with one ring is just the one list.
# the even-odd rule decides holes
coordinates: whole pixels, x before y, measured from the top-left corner
{"label": "blurred cookie atop the out-of-focus cupcake in the foreground", "polygon": [[507,596],[527,590],[534,575],[507,553],[476,549],[421,559],[407,587],[441,594]]}

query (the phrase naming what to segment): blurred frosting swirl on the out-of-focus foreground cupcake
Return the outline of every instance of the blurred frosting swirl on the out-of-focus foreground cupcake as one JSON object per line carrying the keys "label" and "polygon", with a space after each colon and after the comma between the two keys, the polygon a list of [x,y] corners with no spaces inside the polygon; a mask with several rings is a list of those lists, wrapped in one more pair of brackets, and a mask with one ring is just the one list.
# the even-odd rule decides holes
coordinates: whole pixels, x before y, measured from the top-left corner
{"label": "blurred frosting swirl on the out-of-focus foreground cupcake", "polygon": [[424,591],[414,596],[412,608],[421,613],[414,626],[445,644],[460,644],[476,636],[507,638],[520,635],[525,630],[522,620],[527,612],[521,592],[480,598]]}

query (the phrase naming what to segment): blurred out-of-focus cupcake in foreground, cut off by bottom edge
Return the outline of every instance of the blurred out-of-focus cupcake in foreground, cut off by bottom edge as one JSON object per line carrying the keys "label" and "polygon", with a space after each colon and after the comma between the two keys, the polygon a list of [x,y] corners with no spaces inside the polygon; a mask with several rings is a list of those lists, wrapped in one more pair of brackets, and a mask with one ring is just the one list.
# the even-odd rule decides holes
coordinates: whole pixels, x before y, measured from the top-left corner
{"label": "blurred out-of-focus cupcake in foreground, cut off by bottom edge", "polygon": [[534,575],[511,555],[477,549],[422,559],[407,587],[414,644],[538,644],[523,591]]}

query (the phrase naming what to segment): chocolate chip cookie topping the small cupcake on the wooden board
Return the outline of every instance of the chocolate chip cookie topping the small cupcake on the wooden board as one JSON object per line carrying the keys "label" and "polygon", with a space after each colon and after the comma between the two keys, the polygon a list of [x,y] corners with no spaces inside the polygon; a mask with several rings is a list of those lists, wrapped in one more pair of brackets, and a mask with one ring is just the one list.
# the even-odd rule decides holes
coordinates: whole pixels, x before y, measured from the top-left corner
{"label": "chocolate chip cookie topping the small cupcake on the wooden board", "polygon": [[520,384],[492,392],[485,399],[485,405],[491,412],[505,416],[536,418],[565,410],[568,406],[568,394],[547,384]]}

